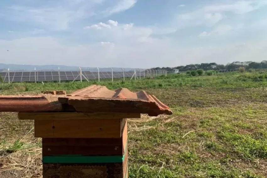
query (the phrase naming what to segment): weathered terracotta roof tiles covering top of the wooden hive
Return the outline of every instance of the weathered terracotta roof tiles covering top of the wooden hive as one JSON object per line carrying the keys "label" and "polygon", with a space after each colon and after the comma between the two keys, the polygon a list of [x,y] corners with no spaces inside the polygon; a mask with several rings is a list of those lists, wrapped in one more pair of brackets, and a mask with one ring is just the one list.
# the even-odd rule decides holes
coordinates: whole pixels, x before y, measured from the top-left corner
{"label": "weathered terracotta roof tiles covering top of the wooden hive", "polygon": [[[0,112],[121,112],[150,116],[172,114],[168,106],[145,91],[131,92],[127,88],[115,91],[106,86],[92,85],[69,95],[61,91],[37,96],[0,96]],[[56,93],[56,95],[54,95]]]}

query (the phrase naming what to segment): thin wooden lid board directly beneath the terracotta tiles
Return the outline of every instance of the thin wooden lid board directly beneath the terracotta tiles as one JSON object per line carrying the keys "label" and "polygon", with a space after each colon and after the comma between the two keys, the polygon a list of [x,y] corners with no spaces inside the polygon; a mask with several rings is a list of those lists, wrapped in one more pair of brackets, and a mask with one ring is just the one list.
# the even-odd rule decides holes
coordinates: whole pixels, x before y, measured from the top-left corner
{"label": "thin wooden lid board directly beneath the terracotta tiles", "polygon": [[136,113],[19,112],[19,120],[80,120],[140,118]]}

